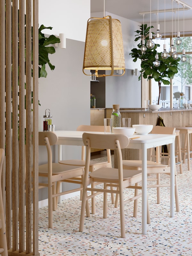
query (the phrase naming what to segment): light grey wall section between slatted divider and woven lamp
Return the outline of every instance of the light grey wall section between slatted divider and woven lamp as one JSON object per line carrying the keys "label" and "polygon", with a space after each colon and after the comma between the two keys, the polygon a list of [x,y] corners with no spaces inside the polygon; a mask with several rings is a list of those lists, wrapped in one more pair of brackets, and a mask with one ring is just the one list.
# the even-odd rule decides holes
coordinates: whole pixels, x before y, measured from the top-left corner
{"label": "light grey wall section between slatted divider and woven lamp", "polygon": [[[50,56],[55,69],[47,66],[47,77],[39,79],[39,131],[43,131],[46,108],[51,110],[55,130],[76,130],[80,124],[90,124],[90,76],[82,72],[84,42],[67,39],[66,49],[55,50]],[[63,159],[80,157],[80,148],[63,146],[62,151]],[[40,163],[41,159],[40,151]]]}

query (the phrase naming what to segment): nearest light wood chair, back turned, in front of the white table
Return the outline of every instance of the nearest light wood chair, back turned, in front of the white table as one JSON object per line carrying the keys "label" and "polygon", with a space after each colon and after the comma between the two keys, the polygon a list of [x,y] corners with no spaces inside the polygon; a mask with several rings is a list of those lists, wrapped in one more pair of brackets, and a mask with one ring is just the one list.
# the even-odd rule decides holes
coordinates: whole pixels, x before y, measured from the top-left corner
{"label": "nearest light wood chair, back turned, in front of the white table", "polygon": [[[120,223],[121,223],[121,237],[125,237],[125,212],[124,204],[136,200],[141,196],[133,196],[132,198],[124,198],[124,188],[129,188],[131,185],[141,181],[141,171],[123,170],[121,148],[126,148],[129,144],[129,138],[123,134],[93,134],[84,133],[83,142],[86,146],[86,163],[85,175],[83,182],[83,197],[81,206],[81,217],[79,231],[84,229],[84,215],[86,202],[98,193],[104,193],[103,202],[103,218],[107,218],[107,194],[119,194],[120,198]],[[108,148],[116,149],[118,157],[118,169],[102,167],[94,172],[89,172],[91,148]],[[94,182],[103,183],[103,188],[90,188],[89,184]],[[101,185],[100,185],[101,186]],[[108,189],[108,187],[116,187],[117,189]],[[135,188],[134,186],[132,188]],[[87,192],[94,192],[88,195]],[[87,212],[88,213],[88,212]],[[90,214],[86,215],[90,217]]]}

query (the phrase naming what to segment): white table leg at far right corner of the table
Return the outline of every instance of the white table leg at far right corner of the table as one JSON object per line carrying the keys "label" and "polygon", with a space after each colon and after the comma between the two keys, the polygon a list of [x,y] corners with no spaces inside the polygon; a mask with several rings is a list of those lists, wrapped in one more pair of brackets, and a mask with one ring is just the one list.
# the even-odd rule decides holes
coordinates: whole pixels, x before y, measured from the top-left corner
{"label": "white table leg at far right corner of the table", "polygon": [[170,216],[175,216],[175,140],[173,139],[173,143],[170,144],[171,154],[170,154]]}

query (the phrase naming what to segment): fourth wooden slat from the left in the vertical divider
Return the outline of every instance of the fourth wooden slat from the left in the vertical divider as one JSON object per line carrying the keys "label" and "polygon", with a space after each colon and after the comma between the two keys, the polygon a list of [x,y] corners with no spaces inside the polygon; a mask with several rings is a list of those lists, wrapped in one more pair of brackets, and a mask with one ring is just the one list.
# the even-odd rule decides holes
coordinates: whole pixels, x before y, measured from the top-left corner
{"label": "fourth wooden slat from the left in the vertical divider", "polygon": [[19,252],[25,251],[25,0],[19,1]]}

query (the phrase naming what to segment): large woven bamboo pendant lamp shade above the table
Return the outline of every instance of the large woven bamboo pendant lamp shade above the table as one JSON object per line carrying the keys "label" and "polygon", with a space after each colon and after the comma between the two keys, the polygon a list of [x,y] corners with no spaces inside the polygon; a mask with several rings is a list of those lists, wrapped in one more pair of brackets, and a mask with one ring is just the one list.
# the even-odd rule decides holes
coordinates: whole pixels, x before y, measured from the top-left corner
{"label": "large woven bamboo pendant lamp shade above the table", "polygon": [[[111,19],[111,16],[88,20],[83,72],[84,69],[95,70],[96,76],[114,76],[114,70],[125,71],[123,37],[119,20]],[[98,70],[111,70],[111,74],[98,75]],[[87,75],[85,72],[84,74]]]}

